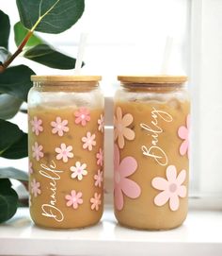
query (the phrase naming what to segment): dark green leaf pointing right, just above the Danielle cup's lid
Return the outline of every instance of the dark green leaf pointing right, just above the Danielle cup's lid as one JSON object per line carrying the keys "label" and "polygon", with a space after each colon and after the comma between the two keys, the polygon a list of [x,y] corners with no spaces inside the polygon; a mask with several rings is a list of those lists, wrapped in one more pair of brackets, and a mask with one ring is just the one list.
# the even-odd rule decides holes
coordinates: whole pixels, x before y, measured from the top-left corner
{"label": "dark green leaf pointing right, just above the Danielle cup's lid", "polygon": [[73,69],[75,66],[75,59],[57,52],[47,44],[39,44],[27,50],[24,57],[51,68]]}

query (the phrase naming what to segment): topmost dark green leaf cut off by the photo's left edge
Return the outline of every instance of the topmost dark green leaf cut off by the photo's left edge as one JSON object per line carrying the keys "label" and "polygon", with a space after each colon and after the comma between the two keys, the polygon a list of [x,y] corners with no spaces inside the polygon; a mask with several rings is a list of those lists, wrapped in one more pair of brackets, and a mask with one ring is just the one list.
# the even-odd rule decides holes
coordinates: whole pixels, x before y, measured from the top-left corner
{"label": "topmost dark green leaf cut off by the photo's left edge", "polygon": [[0,46],[8,49],[8,38],[10,34],[10,22],[8,15],[0,10]]}

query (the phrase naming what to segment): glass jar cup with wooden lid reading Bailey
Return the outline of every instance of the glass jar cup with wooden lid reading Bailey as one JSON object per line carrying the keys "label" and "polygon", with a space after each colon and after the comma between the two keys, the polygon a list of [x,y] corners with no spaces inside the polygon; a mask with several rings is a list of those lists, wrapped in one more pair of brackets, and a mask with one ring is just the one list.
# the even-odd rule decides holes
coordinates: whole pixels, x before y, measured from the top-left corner
{"label": "glass jar cup with wooden lid reading Bailey", "polygon": [[190,102],[187,77],[118,77],[115,215],[143,230],[178,227],[187,214]]}

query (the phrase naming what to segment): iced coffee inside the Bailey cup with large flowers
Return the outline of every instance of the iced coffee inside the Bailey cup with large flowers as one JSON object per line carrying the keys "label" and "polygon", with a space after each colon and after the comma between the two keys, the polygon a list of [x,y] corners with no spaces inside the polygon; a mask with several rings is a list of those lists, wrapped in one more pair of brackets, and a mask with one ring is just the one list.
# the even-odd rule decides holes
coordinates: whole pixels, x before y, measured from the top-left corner
{"label": "iced coffee inside the Bailey cup with large flowers", "polygon": [[[136,100],[127,102],[117,99],[116,115],[118,108],[122,111],[122,118],[127,117],[126,114],[133,116],[131,124],[129,125],[130,121],[125,122],[125,126],[135,132],[133,140],[124,138],[123,148],[119,147],[118,139],[115,141],[119,147],[119,161],[133,157],[137,162],[135,172],[125,176],[124,184],[120,184],[123,181],[119,181],[119,176],[114,177],[116,186],[120,184],[123,196],[123,205],[117,203],[120,201],[119,198],[115,199],[115,215],[119,223],[146,230],[167,230],[180,226],[187,214],[189,166],[187,152],[183,155],[180,153],[184,140],[178,135],[178,130],[182,126],[184,130],[186,128],[186,119],[190,112],[189,102],[177,98],[147,102]],[[171,180],[167,179],[167,167],[169,167],[168,173],[173,173],[173,169],[176,169],[176,183],[171,178]],[[155,178],[162,181],[158,184],[159,189],[152,185],[154,182],[152,180]],[[132,183],[131,188],[129,187],[127,192],[129,195],[125,193],[127,190],[124,186],[131,184],[129,179],[135,181],[139,187],[137,195],[133,195],[136,196],[135,198],[130,193],[135,189],[135,183]],[[159,197],[162,205],[156,205],[154,198],[164,191],[166,194],[161,196],[163,198],[165,196],[165,199]],[[173,210],[170,208],[170,200]]]}

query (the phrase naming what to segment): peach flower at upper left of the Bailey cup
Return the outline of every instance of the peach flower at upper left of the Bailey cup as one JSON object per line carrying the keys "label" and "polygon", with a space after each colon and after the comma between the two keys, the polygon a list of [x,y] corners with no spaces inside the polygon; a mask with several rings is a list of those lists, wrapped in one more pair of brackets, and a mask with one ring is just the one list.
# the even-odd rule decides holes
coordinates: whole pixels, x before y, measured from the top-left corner
{"label": "peach flower at upper left of the Bailey cup", "polygon": [[119,148],[123,148],[125,145],[126,138],[129,141],[135,139],[135,131],[129,127],[134,118],[130,113],[126,113],[122,116],[121,108],[117,108],[117,114],[114,116],[114,139],[115,141],[118,139]]}

